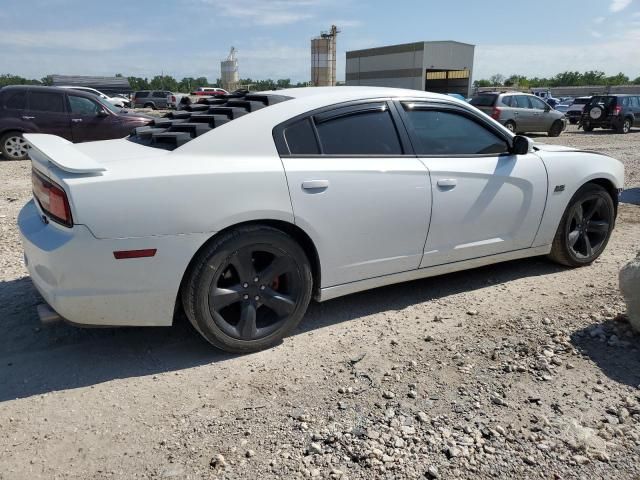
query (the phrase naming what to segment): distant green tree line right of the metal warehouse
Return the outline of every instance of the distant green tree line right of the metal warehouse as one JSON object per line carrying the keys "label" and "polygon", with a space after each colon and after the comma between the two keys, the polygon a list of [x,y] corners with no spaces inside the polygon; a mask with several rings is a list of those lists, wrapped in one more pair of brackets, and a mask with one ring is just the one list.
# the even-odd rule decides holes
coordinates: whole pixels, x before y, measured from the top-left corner
{"label": "distant green tree line right of the metal warehouse", "polygon": [[588,72],[562,72],[550,78],[545,77],[526,77],[524,75],[511,75],[505,77],[497,73],[488,79],[476,80],[473,82],[474,87],[520,87],[520,88],[536,88],[536,87],[580,87],[587,85],[640,85],[640,77],[631,80],[624,73],[607,76],[599,70],[590,70]]}

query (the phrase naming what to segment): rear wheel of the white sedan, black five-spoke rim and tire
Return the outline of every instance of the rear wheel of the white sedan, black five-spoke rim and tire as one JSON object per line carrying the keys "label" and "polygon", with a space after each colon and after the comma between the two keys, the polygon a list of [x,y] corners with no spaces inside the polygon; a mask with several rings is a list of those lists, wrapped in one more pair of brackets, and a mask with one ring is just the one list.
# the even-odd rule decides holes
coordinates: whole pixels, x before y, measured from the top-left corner
{"label": "rear wheel of the white sedan, black five-spoke rim and tire", "polygon": [[275,228],[247,226],[198,253],[181,294],[187,317],[209,343],[248,353],[276,345],[300,323],[312,287],[300,245]]}

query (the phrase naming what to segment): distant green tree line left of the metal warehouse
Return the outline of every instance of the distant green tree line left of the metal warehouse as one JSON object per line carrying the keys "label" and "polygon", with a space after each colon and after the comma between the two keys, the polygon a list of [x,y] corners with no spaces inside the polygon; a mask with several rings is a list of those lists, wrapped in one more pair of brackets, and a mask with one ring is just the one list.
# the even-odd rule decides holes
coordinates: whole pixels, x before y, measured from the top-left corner
{"label": "distant green tree line left of the metal warehouse", "polygon": [[[121,73],[116,73],[116,77],[123,77]],[[129,85],[132,90],[170,90],[173,92],[188,93],[192,92],[198,87],[222,87],[222,80],[216,79],[215,82],[209,82],[206,77],[184,77],[182,80],[176,80],[171,75],[156,75],[149,78],[142,77],[127,77]],[[250,85],[251,90],[264,91],[275,90],[276,88],[292,88],[292,87],[306,87],[307,83],[292,83],[289,78],[282,78],[279,80],[253,80],[251,78],[241,78],[240,85]],[[19,75],[3,74],[0,75],[0,87],[6,85],[45,85],[50,86],[53,84],[53,78],[51,75],[42,77],[41,79],[29,79]]]}

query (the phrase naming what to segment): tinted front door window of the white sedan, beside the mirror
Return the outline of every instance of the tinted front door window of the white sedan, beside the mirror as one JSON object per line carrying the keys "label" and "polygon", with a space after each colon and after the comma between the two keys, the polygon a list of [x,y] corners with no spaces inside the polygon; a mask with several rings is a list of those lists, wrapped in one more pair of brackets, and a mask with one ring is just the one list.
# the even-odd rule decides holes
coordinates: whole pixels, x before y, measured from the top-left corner
{"label": "tinted front door window of the white sedan, beside the mirror", "polygon": [[508,151],[507,142],[466,116],[441,110],[406,109],[418,137],[418,155],[480,155]]}

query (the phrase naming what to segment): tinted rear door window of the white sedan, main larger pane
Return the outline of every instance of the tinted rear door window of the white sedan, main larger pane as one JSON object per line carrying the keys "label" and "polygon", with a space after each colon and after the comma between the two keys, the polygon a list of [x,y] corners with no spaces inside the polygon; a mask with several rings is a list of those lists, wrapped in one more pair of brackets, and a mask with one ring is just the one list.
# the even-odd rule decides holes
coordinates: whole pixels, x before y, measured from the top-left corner
{"label": "tinted rear door window of the white sedan, main larger pane", "polygon": [[398,132],[386,105],[356,110],[323,120],[316,117],[322,153],[326,155],[402,155]]}

